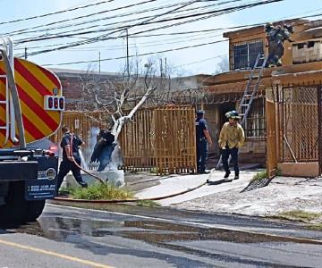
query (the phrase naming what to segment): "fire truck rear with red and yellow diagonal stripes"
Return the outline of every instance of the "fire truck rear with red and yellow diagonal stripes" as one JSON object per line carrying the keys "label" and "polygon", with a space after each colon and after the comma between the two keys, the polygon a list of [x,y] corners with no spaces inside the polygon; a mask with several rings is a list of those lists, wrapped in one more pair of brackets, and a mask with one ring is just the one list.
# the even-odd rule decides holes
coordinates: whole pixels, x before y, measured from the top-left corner
{"label": "fire truck rear with red and yellow diagonal stripes", "polygon": [[54,73],[15,58],[10,38],[0,38],[0,222],[31,222],[57,191],[58,159],[28,147],[59,128],[62,86]]}

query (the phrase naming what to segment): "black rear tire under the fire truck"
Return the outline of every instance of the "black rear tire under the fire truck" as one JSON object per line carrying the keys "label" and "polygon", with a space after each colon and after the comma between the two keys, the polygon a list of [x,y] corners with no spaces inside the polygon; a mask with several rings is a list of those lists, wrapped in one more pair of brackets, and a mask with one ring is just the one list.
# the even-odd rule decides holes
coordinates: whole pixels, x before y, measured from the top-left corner
{"label": "black rear tire under the fire truck", "polygon": [[45,200],[29,201],[24,198],[24,181],[10,182],[5,205],[0,206],[0,222],[34,222],[44,206]]}

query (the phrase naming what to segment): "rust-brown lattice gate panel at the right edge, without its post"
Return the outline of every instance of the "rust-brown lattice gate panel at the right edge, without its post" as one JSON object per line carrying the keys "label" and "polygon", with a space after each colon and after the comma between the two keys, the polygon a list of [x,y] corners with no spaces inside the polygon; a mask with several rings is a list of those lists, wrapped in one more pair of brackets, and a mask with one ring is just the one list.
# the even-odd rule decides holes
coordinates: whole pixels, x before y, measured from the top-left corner
{"label": "rust-brown lattice gate panel at the right edge, without its post", "polygon": [[318,87],[282,88],[279,162],[318,162]]}

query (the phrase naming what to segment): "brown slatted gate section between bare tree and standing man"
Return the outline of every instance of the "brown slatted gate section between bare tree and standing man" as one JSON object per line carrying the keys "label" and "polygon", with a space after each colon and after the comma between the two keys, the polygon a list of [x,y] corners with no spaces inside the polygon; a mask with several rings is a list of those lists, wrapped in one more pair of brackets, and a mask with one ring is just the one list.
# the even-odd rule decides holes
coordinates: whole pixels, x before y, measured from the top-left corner
{"label": "brown slatted gate section between bare tree and standing man", "polygon": [[125,170],[196,172],[195,110],[170,106],[139,111],[120,135]]}

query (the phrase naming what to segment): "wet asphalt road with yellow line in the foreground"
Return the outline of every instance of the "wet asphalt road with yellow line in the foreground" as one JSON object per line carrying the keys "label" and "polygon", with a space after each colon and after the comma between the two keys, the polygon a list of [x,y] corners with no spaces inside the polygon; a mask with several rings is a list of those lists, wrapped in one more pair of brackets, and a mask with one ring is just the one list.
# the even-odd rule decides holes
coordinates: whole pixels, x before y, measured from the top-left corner
{"label": "wet asphalt road with yellow line in the foreground", "polygon": [[38,222],[2,228],[1,268],[322,264],[322,232],[242,216],[133,205],[47,205]]}

